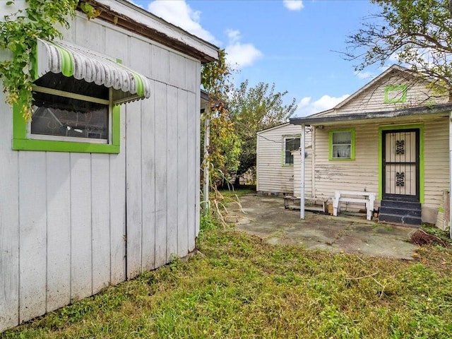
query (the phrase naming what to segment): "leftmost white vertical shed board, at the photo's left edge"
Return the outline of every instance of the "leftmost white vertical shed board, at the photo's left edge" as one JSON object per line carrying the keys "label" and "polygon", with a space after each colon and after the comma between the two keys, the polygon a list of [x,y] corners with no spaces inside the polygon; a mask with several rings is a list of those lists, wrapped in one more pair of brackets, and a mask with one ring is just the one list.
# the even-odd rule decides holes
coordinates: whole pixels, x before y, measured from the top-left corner
{"label": "leftmost white vertical shed board, at the photo's left edge", "polygon": [[19,173],[11,150],[11,107],[0,92],[0,332],[19,321]]}

